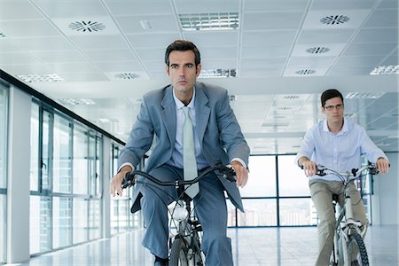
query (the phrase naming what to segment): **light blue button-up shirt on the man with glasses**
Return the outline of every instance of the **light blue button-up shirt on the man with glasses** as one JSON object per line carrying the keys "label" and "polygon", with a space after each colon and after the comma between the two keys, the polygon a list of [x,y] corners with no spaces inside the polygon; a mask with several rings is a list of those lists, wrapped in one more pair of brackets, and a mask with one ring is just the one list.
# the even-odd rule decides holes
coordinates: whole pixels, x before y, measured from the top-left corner
{"label": "light blue button-up shirt on the man with glasses", "polygon": [[[343,127],[337,134],[328,129],[327,121],[320,121],[309,129],[303,137],[295,163],[298,164],[298,160],[306,156],[317,164],[346,172],[360,168],[361,155],[373,163],[379,157],[387,159],[385,153],[367,136],[364,128],[344,117]],[[340,181],[339,177],[333,175],[311,176],[310,179]]]}

